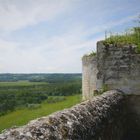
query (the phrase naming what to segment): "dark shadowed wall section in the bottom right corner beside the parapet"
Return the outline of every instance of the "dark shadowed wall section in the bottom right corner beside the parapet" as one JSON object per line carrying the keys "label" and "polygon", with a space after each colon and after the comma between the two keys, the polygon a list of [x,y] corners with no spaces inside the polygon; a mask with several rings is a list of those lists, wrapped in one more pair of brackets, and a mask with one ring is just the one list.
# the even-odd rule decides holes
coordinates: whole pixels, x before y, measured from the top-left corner
{"label": "dark shadowed wall section in the bottom right corner beside the parapet", "polygon": [[140,96],[128,95],[126,97],[127,122],[129,124],[126,140],[140,139]]}

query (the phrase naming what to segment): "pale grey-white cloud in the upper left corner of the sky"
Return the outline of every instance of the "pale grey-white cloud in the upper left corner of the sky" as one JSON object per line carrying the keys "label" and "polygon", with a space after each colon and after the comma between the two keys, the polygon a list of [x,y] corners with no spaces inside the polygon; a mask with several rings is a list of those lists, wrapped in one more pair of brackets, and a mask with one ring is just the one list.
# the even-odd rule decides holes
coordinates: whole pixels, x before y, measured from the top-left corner
{"label": "pale grey-white cloud in the upper left corner of the sky", "polygon": [[1,0],[0,30],[17,30],[52,20],[69,6],[67,0]]}

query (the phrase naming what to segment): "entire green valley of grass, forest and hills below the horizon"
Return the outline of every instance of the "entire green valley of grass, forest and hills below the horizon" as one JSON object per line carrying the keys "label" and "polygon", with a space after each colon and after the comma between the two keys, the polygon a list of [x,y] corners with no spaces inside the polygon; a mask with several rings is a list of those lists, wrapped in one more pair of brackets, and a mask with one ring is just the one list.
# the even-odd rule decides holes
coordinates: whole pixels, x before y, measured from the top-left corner
{"label": "entire green valley of grass, forest and hills below the horizon", "polygon": [[81,101],[79,74],[47,76],[0,75],[0,132]]}

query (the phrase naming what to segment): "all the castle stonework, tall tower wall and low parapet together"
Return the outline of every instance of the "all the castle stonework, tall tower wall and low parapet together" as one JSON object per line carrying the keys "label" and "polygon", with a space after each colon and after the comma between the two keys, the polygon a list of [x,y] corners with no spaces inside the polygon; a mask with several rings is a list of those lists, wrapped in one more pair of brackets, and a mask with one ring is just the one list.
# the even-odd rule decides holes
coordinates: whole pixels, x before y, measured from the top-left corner
{"label": "all the castle stonework, tall tower wall and low parapet together", "polygon": [[[135,46],[98,42],[96,56],[83,57],[82,84],[87,101],[6,130],[0,140],[140,139],[140,54]],[[110,91],[93,97],[104,87]]]}

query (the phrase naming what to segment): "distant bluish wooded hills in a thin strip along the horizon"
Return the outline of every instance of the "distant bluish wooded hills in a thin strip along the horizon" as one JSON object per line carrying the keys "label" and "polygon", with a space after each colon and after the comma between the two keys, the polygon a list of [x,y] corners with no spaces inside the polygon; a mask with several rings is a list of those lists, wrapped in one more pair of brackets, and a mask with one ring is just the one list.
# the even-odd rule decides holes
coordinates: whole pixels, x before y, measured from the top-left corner
{"label": "distant bluish wooded hills in a thin strip along the horizon", "polygon": [[[30,82],[64,83],[81,78],[80,73],[74,74],[0,74],[1,82],[20,82],[19,84],[30,84]],[[28,82],[30,81],[30,82]],[[37,83],[37,84],[38,84]],[[31,83],[32,84],[32,83]],[[34,83],[35,85],[35,83]]]}

